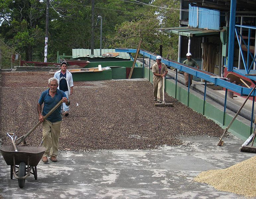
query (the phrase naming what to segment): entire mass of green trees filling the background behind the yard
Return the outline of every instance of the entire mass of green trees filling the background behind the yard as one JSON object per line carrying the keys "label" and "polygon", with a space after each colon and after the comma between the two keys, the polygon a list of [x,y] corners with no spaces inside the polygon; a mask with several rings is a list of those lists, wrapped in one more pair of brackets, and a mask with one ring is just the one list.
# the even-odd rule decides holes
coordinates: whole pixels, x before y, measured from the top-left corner
{"label": "entire mass of green trees filling the background behind the yard", "polygon": [[[102,47],[136,48],[143,38],[145,50],[157,52],[159,44],[163,44],[168,51],[174,51],[176,38],[154,28],[178,23],[178,11],[146,4],[169,8],[178,7],[177,2],[95,0],[95,22],[99,15],[103,19]],[[22,60],[44,60],[45,9],[38,0],[0,0],[0,34],[22,54]],[[50,0],[49,13],[49,62],[56,62],[57,51],[71,55],[73,48],[90,48],[90,0]],[[99,48],[99,24],[95,23],[95,48]]]}

